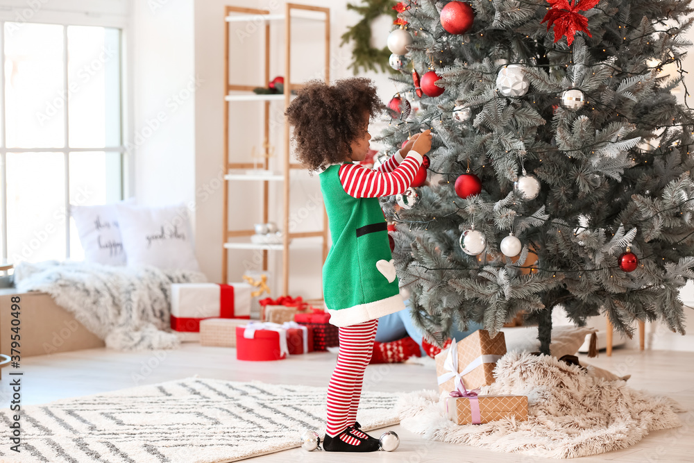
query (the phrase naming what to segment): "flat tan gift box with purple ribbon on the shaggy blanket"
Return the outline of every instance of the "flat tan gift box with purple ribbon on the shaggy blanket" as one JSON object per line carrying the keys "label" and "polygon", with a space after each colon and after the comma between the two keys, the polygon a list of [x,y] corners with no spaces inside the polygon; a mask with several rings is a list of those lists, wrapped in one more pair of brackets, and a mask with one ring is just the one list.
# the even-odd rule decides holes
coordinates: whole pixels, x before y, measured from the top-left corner
{"label": "flat tan gift box with purple ribbon on the shaggy blanket", "polygon": [[489,423],[511,416],[527,421],[527,396],[446,397],[446,412],[456,424]]}

